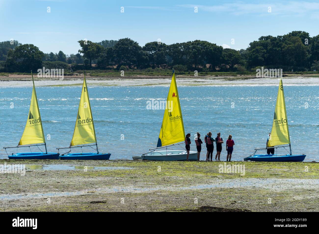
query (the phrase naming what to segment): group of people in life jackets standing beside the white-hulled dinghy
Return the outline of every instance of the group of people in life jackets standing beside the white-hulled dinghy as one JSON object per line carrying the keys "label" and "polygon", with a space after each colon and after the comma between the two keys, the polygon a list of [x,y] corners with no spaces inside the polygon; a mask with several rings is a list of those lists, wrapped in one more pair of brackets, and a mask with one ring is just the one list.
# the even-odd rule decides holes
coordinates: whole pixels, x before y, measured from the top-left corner
{"label": "group of people in life jackets standing beside the white-hulled dinghy", "polygon": [[[188,157],[189,157],[189,150],[190,150],[190,133],[187,133],[186,137],[185,137],[185,148],[187,151],[187,158],[186,160],[188,161]],[[213,151],[214,151],[214,142],[216,142],[216,155],[215,155],[215,160],[220,160],[220,152],[222,150],[222,144],[224,143],[223,138],[220,137],[220,132],[217,133],[217,137],[216,138],[212,138],[211,137],[211,132],[207,133],[207,135],[204,138],[204,142],[206,144],[206,149],[207,149],[207,153],[206,153],[206,161],[209,161],[209,159],[212,161],[213,160]],[[202,151],[202,144],[203,141],[200,139],[200,134],[197,132],[197,138],[195,139],[195,143],[196,143],[196,148],[197,148],[197,160],[199,161],[200,158],[200,152]],[[232,135],[228,136],[228,139],[226,140],[226,151],[227,151],[227,158],[226,161],[231,160],[232,158],[232,153],[234,150],[234,145],[235,142],[232,139]]]}

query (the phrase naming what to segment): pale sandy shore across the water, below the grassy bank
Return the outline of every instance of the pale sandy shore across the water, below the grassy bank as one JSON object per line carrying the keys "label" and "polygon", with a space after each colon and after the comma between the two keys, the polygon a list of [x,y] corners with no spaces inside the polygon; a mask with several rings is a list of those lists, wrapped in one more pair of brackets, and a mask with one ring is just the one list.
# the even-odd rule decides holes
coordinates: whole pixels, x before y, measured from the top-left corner
{"label": "pale sandy shore across the water, below the grassy bank", "polygon": [[[36,86],[74,86],[82,85],[83,75],[64,76],[57,78],[36,78]],[[123,76],[96,77],[86,76],[90,86],[167,86],[171,82],[170,76]],[[179,86],[276,86],[277,78],[256,78],[248,75],[238,76],[179,76],[176,77]],[[319,77],[285,76],[285,85],[319,85]],[[32,86],[30,75],[0,76],[0,87],[29,87]]]}

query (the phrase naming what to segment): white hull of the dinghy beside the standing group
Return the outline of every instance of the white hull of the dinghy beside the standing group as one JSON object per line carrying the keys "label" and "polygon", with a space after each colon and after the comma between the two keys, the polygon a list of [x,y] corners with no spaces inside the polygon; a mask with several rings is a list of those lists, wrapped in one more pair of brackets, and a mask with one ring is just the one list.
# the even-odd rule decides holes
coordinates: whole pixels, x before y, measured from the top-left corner
{"label": "white hull of the dinghy beside the standing group", "polygon": [[[159,161],[186,161],[187,152],[185,150],[163,150],[152,151],[141,155],[145,160]],[[197,152],[189,151],[189,161],[197,161]]]}

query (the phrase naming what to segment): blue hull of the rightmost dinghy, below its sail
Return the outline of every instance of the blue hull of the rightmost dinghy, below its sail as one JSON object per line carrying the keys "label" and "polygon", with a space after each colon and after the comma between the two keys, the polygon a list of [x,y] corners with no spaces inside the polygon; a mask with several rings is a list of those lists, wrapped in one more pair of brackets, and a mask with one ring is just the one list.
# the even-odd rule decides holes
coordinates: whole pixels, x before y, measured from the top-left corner
{"label": "blue hull of the rightmost dinghy, below its sail", "polygon": [[244,158],[245,161],[260,161],[260,162],[301,162],[306,158],[305,154],[256,154],[251,157]]}

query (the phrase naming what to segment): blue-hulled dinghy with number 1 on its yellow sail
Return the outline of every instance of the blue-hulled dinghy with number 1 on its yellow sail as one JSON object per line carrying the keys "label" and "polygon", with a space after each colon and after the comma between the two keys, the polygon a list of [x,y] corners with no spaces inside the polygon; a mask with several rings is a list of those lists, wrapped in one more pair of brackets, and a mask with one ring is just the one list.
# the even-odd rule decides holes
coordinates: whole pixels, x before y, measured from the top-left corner
{"label": "blue-hulled dinghy with number 1 on its yellow sail", "polygon": [[[84,81],[82,86],[82,93],[78,108],[77,120],[75,122],[73,137],[69,147],[57,148],[60,149],[71,149],[80,147],[92,146],[96,147],[96,152],[93,153],[64,153],[60,156],[60,159],[66,160],[108,160],[111,156],[110,153],[99,153],[98,143],[96,140],[92,110],[90,105],[89,93],[86,85],[85,72],[84,72]],[[94,149],[94,148],[93,148]],[[95,150],[95,149],[94,149]]]}

